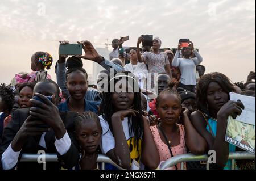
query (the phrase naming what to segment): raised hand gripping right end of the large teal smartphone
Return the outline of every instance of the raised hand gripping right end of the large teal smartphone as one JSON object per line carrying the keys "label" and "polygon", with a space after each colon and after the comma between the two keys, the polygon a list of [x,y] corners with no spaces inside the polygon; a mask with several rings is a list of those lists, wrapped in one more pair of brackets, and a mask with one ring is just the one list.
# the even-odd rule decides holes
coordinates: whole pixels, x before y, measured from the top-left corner
{"label": "raised hand gripping right end of the large teal smartphone", "polygon": [[80,57],[86,60],[92,60],[94,62],[97,62],[98,64],[104,61],[104,58],[98,54],[97,50],[93,47],[90,41],[77,41],[77,43],[82,44],[82,49],[84,49],[85,54],[76,57]]}

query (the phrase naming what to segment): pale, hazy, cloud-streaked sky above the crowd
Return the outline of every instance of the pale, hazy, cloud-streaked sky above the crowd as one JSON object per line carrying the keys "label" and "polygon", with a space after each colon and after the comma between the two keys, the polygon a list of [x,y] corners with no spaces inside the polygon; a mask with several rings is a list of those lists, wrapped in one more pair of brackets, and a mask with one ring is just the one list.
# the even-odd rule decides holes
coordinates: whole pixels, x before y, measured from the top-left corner
{"label": "pale, hazy, cloud-streaked sky above the crowd", "polygon": [[[255,71],[255,0],[1,0],[0,83],[30,72],[37,51],[52,54],[48,73],[56,81],[59,40],[105,47],[129,35],[123,45],[135,47],[146,34],[158,36],[162,48],[177,48],[180,38],[189,38],[206,73],[218,71],[237,82]],[[89,74],[92,64],[84,63]]]}

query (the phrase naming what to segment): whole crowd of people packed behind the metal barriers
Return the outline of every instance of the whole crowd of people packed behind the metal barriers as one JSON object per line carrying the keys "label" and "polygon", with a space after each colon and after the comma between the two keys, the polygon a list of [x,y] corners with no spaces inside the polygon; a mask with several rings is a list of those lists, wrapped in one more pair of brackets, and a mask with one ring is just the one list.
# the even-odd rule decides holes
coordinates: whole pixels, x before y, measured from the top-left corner
{"label": "whole crowd of people packed behind the metal barriers", "polygon": [[[179,42],[176,52],[160,50],[159,37],[152,47],[140,47],[143,41],[139,37],[137,48],[126,48],[123,56],[122,37],[114,39],[109,57],[89,41],[77,41],[84,55],[59,54],[56,81],[46,71],[53,64],[51,54],[34,53],[31,73],[18,73],[10,85],[0,85],[0,169],[42,169],[36,162],[20,162],[23,153],[39,150],[57,155],[58,162],[47,163],[55,170],[100,169],[98,154],[123,169],[159,169],[176,155],[209,150],[216,151],[211,169],[231,169],[228,155],[237,149],[225,141],[227,119],[240,115],[244,106],[229,100],[229,92],[255,97],[255,72],[246,82],[233,83],[222,73],[204,74],[203,57],[192,41]],[[88,88],[83,59],[104,68],[97,89]],[[106,164],[105,169],[117,167]],[[180,163],[168,169],[179,170]]]}

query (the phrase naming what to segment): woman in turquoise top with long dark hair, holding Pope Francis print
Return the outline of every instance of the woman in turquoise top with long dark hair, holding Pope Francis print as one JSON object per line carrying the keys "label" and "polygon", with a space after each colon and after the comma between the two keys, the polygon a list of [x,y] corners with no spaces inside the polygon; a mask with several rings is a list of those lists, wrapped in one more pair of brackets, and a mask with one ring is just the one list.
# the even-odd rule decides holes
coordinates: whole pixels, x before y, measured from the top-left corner
{"label": "woman in turquoise top with long dark hair, holding Pope Francis print", "polygon": [[[205,74],[196,89],[197,111],[191,114],[191,122],[204,137],[208,150],[216,151],[216,163],[224,169],[231,169],[229,152],[236,146],[225,141],[228,116],[240,115],[244,108],[241,102],[229,100],[229,92],[235,92],[228,77],[221,73]],[[228,162],[227,162],[228,161]]]}

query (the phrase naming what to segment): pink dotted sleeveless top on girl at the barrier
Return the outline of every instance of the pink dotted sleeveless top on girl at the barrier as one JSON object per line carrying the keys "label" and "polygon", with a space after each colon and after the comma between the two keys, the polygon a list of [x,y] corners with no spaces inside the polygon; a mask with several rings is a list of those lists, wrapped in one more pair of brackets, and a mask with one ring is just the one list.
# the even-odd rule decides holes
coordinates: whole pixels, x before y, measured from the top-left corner
{"label": "pink dotted sleeveless top on girl at the barrier", "polygon": [[[180,144],[177,146],[171,146],[172,154],[174,157],[179,154],[187,154],[187,147],[185,145],[185,131],[184,125],[179,125],[180,128]],[[156,147],[158,148],[159,156],[160,156],[160,163],[166,161],[167,159],[171,158],[171,153],[168,146],[161,140],[160,134],[158,132],[158,128],[156,125],[150,127],[151,132],[154,137],[154,141]],[[176,170],[175,166],[168,168],[169,170]],[[177,169],[180,170],[180,163],[177,164]],[[186,165],[184,164],[184,169],[186,169]]]}

